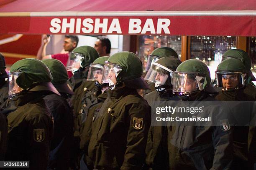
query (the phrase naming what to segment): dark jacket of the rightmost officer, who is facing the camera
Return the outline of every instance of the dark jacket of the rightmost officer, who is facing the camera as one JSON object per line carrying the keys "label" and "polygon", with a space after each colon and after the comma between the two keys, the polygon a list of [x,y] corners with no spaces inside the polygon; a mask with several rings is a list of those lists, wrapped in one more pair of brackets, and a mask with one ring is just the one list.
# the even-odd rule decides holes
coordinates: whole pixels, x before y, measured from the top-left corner
{"label": "dark jacket of the rightmost officer, who is facing the camera", "polygon": [[[226,102],[226,107],[230,107],[233,111],[234,120],[239,121],[237,126],[234,126],[233,132],[233,155],[232,170],[248,169],[253,170],[253,164],[256,163],[256,134],[254,126],[242,126],[241,121],[246,115],[256,114],[253,111],[255,102],[239,102],[239,101],[254,101],[253,97],[243,92],[244,89],[234,91],[220,91],[215,97],[221,101],[237,101],[230,104]],[[252,107],[252,109],[249,109]],[[254,113],[249,113],[254,112]],[[252,117],[251,115],[250,117]]]}

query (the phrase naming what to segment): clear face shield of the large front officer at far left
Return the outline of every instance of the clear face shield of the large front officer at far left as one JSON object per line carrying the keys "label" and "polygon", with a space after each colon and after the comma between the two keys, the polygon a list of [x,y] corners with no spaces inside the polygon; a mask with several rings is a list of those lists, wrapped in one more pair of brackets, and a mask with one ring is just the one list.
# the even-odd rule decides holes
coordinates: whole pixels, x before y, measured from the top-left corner
{"label": "clear face shield of the large front officer at far left", "polygon": [[18,93],[20,93],[21,90],[23,90],[16,83],[16,79],[19,77],[20,73],[21,72],[11,72],[8,74],[8,77],[9,77],[8,95],[9,96],[16,96]]}

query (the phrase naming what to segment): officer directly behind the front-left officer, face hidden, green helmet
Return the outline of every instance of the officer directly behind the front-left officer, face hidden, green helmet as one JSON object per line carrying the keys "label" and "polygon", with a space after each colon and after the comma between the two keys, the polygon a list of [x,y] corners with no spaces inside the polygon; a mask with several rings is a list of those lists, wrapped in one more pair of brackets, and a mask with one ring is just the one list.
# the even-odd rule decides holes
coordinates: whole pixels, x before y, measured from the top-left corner
{"label": "officer directly behind the front-left officer, face hidden, green helmet", "polygon": [[65,66],[56,59],[42,60],[53,77],[52,84],[61,94],[46,95],[44,100],[54,117],[54,137],[51,141],[48,169],[67,170],[71,165],[73,145],[73,91],[67,86],[68,75]]}

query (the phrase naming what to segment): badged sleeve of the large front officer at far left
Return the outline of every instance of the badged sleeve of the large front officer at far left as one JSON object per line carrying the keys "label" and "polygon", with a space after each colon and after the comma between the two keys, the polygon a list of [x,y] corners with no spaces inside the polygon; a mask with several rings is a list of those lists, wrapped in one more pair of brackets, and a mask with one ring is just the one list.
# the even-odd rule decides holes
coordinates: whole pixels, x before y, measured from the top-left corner
{"label": "badged sleeve of the large front officer at far left", "polygon": [[[45,111],[45,110],[44,110]],[[28,142],[30,148],[29,168],[33,170],[46,170],[49,160],[49,146],[53,134],[53,121],[49,115],[41,112],[28,117]]]}

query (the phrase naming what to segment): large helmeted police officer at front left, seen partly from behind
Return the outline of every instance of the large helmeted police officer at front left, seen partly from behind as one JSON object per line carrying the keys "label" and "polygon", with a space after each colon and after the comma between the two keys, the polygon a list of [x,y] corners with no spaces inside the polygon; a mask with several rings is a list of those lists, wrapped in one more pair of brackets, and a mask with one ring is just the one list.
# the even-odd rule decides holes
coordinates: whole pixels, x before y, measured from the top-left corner
{"label": "large helmeted police officer at front left, seen partly from behind", "polygon": [[59,94],[46,65],[37,59],[15,62],[9,75],[9,94],[17,109],[8,119],[6,160],[29,161],[29,168],[45,170],[53,136],[53,118],[44,95]]}

